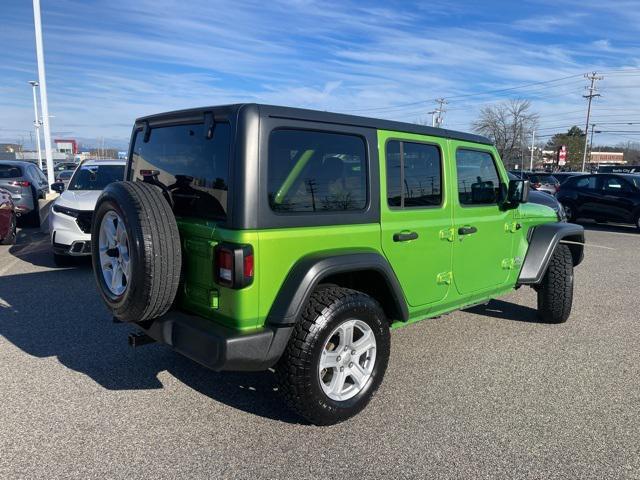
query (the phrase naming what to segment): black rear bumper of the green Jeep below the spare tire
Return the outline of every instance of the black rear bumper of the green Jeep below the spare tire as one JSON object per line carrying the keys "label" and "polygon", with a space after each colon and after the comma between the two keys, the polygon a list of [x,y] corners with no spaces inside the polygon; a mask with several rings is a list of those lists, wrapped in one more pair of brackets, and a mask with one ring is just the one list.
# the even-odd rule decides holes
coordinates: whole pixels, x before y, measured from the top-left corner
{"label": "black rear bumper of the green Jeep below the spare tire", "polygon": [[259,371],[278,361],[293,327],[239,332],[210,320],[172,310],[143,329],[157,342],[212,370]]}

